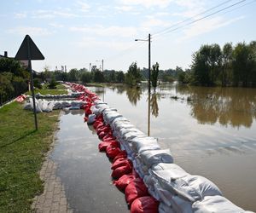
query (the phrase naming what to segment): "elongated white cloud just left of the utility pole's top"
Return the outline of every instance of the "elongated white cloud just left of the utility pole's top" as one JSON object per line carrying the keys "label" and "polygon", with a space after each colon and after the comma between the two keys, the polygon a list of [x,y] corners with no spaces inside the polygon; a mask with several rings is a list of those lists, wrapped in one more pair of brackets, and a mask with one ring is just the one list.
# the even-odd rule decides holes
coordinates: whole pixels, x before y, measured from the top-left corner
{"label": "elongated white cloud just left of the utility pole's top", "polygon": [[134,37],[137,35],[137,28],[131,26],[72,26],[69,30],[72,32],[86,32],[102,37]]}

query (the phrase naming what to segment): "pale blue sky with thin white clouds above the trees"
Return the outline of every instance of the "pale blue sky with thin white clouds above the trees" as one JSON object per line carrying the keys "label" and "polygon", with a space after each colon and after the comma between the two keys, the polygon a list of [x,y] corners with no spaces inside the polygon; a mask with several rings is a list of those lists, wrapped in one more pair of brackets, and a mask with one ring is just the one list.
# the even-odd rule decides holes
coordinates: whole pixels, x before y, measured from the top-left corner
{"label": "pale blue sky with thin white clouds above the trees", "polygon": [[45,57],[32,61],[38,72],[100,68],[101,60],[126,72],[135,61],[148,67],[150,33],[151,65],[186,69],[202,44],[256,40],[255,11],[256,0],[2,1],[0,55],[15,57],[28,34]]}

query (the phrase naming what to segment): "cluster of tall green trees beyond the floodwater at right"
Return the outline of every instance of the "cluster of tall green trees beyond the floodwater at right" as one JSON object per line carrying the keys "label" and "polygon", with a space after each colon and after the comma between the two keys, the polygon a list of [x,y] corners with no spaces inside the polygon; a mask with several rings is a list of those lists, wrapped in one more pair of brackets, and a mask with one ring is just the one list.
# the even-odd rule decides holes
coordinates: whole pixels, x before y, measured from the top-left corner
{"label": "cluster of tall green trees beyond the floodwater at right", "polygon": [[204,44],[192,55],[188,72],[181,72],[179,82],[201,86],[256,86],[256,41],[251,43]]}

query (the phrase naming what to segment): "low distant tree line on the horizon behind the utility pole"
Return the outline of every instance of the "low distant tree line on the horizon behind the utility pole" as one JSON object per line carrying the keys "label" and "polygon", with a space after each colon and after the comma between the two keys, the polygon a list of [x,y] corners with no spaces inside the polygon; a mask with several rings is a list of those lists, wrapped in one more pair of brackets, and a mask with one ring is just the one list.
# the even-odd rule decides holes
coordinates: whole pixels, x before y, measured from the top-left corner
{"label": "low distant tree line on the horizon behind the utility pole", "polygon": [[[177,79],[180,72],[183,72],[181,67],[176,69],[159,70],[159,64],[155,64],[152,68],[153,80],[154,76],[158,77],[158,80],[164,82],[173,82]],[[69,72],[62,71],[49,71],[48,67],[44,67],[44,72],[40,72],[35,76],[35,85],[43,83],[45,81],[69,81],[75,83],[126,83],[130,86],[135,86],[141,81],[148,80],[148,69],[137,66],[137,62],[132,62],[127,72],[115,71],[115,70],[99,70],[96,66],[92,66],[88,71],[86,68],[71,69]],[[152,82],[156,84],[156,82]]]}

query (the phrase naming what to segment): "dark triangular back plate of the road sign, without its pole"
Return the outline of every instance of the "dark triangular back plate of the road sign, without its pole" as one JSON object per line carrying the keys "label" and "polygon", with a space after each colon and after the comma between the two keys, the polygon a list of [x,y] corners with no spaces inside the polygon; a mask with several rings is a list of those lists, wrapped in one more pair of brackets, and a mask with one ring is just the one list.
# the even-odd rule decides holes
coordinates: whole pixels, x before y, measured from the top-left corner
{"label": "dark triangular back plate of the road sign, without its pole", "polygon": [[32,41],[29,35],[26,35],[20,45],[16,56],[16,60],[44,60],[44,55],[40,52],[37,45]]}

